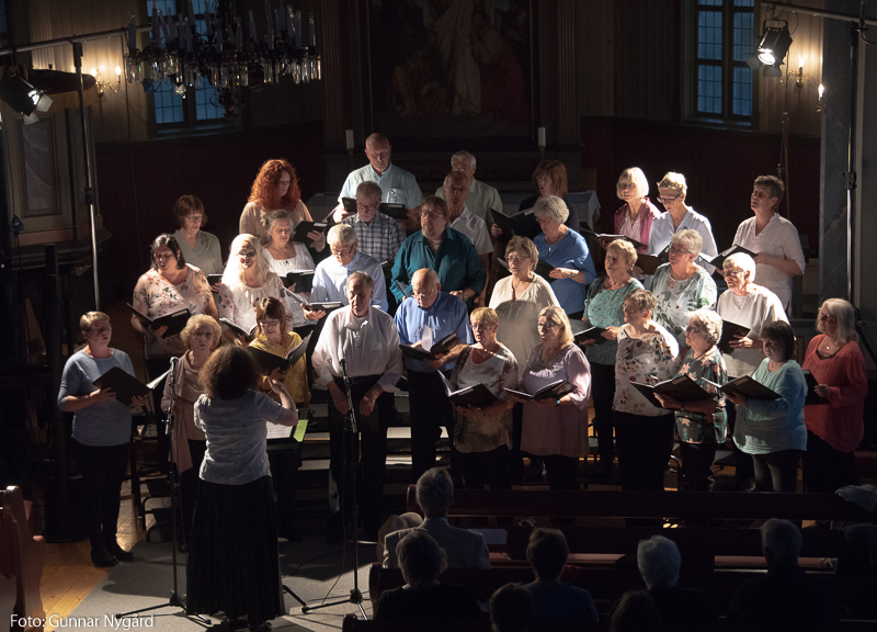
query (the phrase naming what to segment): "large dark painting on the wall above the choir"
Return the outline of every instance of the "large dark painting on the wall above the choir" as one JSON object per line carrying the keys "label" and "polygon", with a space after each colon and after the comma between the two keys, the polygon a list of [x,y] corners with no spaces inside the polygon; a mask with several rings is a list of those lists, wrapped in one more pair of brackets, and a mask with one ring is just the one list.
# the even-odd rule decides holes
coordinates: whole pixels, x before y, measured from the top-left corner
{"label": "large dark painting on the wall above the choir", "polygon": [[391,137],[533,134],[531,0],[368,3],[372,128]]}

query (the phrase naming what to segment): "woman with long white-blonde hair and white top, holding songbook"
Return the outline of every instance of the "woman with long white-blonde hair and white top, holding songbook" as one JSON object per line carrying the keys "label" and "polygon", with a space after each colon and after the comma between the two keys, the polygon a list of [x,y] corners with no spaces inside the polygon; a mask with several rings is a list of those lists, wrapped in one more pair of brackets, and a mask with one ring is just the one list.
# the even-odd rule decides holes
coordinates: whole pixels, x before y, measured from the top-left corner
{"label": "woman with long white-blonde hair and white top, holding songbook", "polygon": [[[255,305],[269,296],[287,305],[292,301],[286,297],[280,276],[269,270],[259,239],[253,235],[238,235],[231,242],[231,255],[219,287],[219,316],[249,330],[255,325]],[[244,343],[230,328],[223,335],[236,345]]]}

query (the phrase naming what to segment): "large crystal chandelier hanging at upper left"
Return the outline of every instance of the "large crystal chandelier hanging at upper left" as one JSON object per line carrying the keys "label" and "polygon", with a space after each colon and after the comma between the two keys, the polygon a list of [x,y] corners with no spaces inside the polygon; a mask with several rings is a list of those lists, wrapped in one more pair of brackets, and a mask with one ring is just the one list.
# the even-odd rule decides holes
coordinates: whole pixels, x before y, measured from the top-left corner
{"label": "large crystal chandelier hanging at upper left", "polygon": [[[234,116],[242,105],[242,88],[277,83],[289,76],[295,83],[321,79],[320,56],[317,52],[317,29],[314,13],[308,14],[307,35],[301,11],[294,11],[281,0],[272,8],[265,0],[266,30],[257,33],[253,12],[249,12],[249,32],[244,36],[240,16],[231,15],[221,0],[196,20],[189,0],[187,14],[162,15],[152,0],[149,43],[137,48],[134,15],[128,14],[128,54],[125,55],[125,79],[143,83],[153,91],[168,81],[178,94],[205,82],[217,92],[217,105]],[[203,22],[203,32],[198,29]]]}

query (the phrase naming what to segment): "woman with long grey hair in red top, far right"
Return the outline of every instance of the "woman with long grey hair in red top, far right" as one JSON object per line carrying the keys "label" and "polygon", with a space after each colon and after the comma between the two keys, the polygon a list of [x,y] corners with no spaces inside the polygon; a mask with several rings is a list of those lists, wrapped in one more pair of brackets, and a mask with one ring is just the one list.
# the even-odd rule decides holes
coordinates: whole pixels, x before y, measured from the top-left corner
{"label": "woman with long grey hair in red top, far right", "polygon": [[833,494],[858,485],[854,450],[865,436],[868,380],[858,348],[855,308],[843,298],[829,298],[819,308],[815,336],[804,357],[804,370],[817,381],[823,404],[804,407],[807,452],[804,489]]}

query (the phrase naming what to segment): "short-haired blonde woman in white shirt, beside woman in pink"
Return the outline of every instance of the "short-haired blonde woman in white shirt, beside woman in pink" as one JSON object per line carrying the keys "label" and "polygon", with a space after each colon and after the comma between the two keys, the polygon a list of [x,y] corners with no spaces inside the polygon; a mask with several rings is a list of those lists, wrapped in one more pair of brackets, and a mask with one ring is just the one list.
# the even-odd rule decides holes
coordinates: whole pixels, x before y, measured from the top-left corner
{"label": "short-haired blonde woman in white shirt, beside woman in pink", "polygon": [[[704,215],[685,204],[688,185],[682,173],[669,172],[658,183],[660,198],[667,213],[656,217],[651,224],[649,236],[649,255],[658,255],[670,244],[673,235],[684,228],[697,230],[703,238],[701,250],[710,257],[718,255],[716,239],[713,237],[713,226]],[[714,268],[705,266],[707,272],[713,273]]]}

